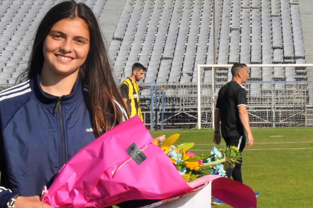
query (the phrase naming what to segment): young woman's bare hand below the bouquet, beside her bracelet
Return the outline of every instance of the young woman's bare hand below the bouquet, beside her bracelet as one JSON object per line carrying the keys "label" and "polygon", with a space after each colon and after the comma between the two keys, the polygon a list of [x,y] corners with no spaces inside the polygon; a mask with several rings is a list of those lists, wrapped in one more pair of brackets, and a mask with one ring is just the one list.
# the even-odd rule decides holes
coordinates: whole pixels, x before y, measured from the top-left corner
{"label": "young woman's bare hand below the bouquet, beside her bracelet", "polygon": [[14,202],[14,208],[53,208],[40,201],[39,196],[18,196]]}

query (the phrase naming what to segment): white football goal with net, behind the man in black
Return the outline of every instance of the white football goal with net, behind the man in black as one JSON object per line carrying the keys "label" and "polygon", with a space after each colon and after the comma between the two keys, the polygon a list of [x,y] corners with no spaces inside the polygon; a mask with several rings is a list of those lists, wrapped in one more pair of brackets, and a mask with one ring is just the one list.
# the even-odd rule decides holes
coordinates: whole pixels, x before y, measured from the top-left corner
{"label": "white football goal with net, behind the man in black", "polygon": [[[214,128],[218,90],[232,64],[197,65],[198,129]],[[313,64],[247,64],[251,127],[313,126]]]}

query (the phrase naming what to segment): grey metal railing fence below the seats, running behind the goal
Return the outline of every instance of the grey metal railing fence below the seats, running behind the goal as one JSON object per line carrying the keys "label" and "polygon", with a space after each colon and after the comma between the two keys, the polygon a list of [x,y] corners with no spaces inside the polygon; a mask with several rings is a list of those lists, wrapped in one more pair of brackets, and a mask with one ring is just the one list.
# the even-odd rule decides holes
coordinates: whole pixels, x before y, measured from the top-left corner
{"label": "grey metal railing fence below the seats, running behind the goal", "polygon": [[[140,106],[148,129],[197,127],[197,84],[141,84]],[[223,84],[215,84],[214,93]],[[252,81],[247,90],[251,127],[313,126],[313,82]],[[213,128],[212,84],[201,83],[201,128]]]}

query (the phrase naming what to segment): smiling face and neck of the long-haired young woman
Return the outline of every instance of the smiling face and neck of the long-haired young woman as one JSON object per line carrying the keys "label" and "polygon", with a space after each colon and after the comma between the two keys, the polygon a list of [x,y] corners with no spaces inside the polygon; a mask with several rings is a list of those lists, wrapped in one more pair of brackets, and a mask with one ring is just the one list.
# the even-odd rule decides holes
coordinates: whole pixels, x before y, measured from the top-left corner
{"label": "smiling face and neck of the long-haired young woman", "polygon": [[65,18],[53,25],[44,45],[44,63],[40,84],[49,94],[69,94],[79,68],[85,62],[90,48],[90,35],[81,18]]}

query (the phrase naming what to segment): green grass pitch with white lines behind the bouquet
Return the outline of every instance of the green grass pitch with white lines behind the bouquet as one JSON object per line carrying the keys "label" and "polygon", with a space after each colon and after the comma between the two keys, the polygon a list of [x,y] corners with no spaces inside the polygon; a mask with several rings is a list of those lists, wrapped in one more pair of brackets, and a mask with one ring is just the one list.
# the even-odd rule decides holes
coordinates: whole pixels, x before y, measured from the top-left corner
{"label": "green grass pitch with white lines behind the bouquet", "polygon": [[[212,129],[150,133],[153,138],[179,133],[176,143],[195,143],[190,151],[198,155],[209,155],[214,146]],[[313,128],[263,128],[252,133],[254,145],[243,151],[242,173],[244,184],[260,193],[258,207],[313,207]],[[225,146],[223,139],[219,146]]]}

